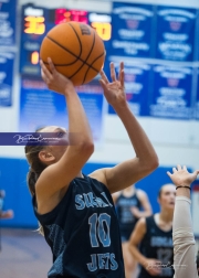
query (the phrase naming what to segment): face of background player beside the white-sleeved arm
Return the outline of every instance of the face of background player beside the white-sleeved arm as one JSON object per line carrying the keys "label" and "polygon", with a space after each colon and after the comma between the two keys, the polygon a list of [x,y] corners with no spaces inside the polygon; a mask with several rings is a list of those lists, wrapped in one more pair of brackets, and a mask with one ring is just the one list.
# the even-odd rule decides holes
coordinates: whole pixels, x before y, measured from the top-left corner
{"label": "face of background player beside the white-sleeved arm", "polygon": [[176,200],[176,186],[172,184],[165,185],[161,189],[161,194],[158,199],[160,206],[167,210],[174,210],[175,200]]}

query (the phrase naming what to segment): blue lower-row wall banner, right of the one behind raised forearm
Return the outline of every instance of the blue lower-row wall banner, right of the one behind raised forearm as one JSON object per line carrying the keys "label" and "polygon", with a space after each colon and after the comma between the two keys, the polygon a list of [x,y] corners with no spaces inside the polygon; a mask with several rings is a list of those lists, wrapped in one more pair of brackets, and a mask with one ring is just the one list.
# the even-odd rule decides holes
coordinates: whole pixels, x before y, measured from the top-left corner
{"label": "blue lower-row wall banner, right of the one behind raised forearm", "polygon": [[192,117],[192,68],[155,65],[149,116],[190,119]]}

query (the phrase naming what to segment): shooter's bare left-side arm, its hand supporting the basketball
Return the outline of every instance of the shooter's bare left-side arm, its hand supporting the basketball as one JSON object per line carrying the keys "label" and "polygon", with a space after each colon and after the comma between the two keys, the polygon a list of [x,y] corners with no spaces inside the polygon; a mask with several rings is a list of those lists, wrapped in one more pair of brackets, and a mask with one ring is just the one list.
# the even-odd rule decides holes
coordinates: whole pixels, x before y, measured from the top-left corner
{"label": "shooter's bare left-side arm, its hand supporting the basketball", "polygon": [[72,82],[55,70],[50,58],[49,65],[51,72],[41,62],[42,78],[50,89],[65,96],[70,145],[65,148],[65,152],[60,160],[45,168],[36,182],[36,192],[40,193],[38,200],[40,197],[42,203],[61,189],[67,188],[94,150],[91,128]]}

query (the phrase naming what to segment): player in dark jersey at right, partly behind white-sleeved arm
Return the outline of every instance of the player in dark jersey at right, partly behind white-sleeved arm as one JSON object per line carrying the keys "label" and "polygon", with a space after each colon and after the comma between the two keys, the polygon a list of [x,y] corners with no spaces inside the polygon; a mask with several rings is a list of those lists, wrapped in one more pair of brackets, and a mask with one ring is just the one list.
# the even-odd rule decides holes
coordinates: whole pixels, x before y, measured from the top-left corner
{"label": "player in dark jersey at right, partly behind white-sleeved arm", "polygon": [[[160,213],[142,217],[130,236],[129,252],[142,265],[139,278],[172,278],[172,215],[176,188],[160,188],[158,203]],[[139,247],[138,247],[139,245]]]}

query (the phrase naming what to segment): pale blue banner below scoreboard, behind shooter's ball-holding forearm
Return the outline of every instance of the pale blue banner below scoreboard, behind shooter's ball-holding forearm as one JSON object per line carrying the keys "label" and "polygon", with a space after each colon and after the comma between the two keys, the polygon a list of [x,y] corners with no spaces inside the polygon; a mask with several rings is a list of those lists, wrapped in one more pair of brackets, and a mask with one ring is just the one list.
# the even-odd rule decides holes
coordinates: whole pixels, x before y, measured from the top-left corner
{"label": "pale blue banner below scoreboard, behind shooter's ball-holding forearm", "polygon": [[[103,121],[106,111],[103,90],[98,82],[76,87],[80,99],[88,118],[96,146],[103,140]],[[41,79],[21,81],[19,131],[33,132],[43,126],[67,128],[65,98],[50,92]]]}

